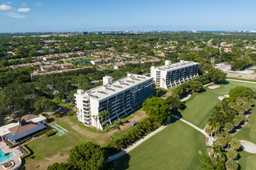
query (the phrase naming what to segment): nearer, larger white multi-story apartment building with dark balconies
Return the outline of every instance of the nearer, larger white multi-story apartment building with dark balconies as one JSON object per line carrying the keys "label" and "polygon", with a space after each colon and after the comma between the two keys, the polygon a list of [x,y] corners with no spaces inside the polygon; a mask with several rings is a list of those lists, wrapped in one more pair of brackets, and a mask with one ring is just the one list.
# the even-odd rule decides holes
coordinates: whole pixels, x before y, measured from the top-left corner
{"label": "nearer, larger white multi-story apartment building with dark balconies", "polygon": [[[112,124],[119,118],[136,110],[149,97],[153,97],[153,78],[128,73],[123,79],[112,81],[111,76],[103,77],[103,86],[74,93],[78,109],[78,121],[86,126],[103,129],[102,122]],[[104,110],[109,116],[99,116]]]}

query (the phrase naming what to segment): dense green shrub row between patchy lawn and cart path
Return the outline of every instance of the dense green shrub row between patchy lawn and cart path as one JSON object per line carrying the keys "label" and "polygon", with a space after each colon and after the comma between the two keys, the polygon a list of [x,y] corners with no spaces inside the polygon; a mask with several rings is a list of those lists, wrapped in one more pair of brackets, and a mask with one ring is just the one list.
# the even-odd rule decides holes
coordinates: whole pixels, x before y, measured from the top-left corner
{"label": "dense green shrub row between patchy lawn and cart path", "polygon": [[109,141],[105,147],[106,151],[109,155],[114,155],[157,128],[157,124],[151,122],[150,119],[146,117],[144,120],[138,122],[135,127],[128,129],[118,138]]}

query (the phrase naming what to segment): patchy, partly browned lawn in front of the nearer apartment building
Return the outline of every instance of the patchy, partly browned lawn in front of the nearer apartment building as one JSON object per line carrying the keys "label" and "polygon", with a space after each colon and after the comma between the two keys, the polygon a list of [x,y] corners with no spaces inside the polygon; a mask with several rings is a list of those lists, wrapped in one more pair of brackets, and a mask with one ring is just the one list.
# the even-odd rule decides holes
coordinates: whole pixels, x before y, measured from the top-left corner
{"label": "patchy, partly browned lawn in front of the nearer apartment building", "polygon": [[[66,162],[69,150],[74,146],[86,141],[93,141],[99,145],[105,145],[109,139],[109,133],[97,131],[94,128],[85,127],[83,124],[76,124],[74,117],[61,117],[55,119],[58,125],[68,132],[61,136],[43,136],[30,141],[27,145],[32,151],[32,157],[26,158],[26,169],[46,169],[54,162]],[[116,131],[113,136],[119,136],[123,131]],[[40,165],[40,166],[39,166]]]}

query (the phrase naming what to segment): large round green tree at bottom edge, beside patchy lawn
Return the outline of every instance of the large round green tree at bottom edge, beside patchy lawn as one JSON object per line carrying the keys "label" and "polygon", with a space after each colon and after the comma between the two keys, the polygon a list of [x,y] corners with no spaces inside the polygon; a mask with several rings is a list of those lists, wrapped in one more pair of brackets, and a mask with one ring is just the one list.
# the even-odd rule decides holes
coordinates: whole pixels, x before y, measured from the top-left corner
{"label": "large round green tree at bottom edge, beside patchy lawn", "polygon": [[100,170],[106,168],[106,158],[104,149],[89,141],[71,148],[67,163],[54,163],[47,170]]}

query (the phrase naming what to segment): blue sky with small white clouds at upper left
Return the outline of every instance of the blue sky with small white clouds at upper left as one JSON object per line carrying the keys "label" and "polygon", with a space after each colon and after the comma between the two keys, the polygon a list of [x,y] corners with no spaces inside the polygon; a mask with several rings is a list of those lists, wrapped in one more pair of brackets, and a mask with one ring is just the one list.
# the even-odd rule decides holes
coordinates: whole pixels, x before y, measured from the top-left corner
{"label": "blue sky with small white clouds at upper left", "polygon": [[0,0],[0,32],[256,30],[255,0]]}

